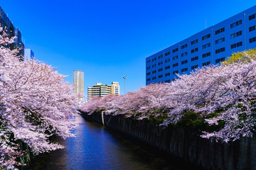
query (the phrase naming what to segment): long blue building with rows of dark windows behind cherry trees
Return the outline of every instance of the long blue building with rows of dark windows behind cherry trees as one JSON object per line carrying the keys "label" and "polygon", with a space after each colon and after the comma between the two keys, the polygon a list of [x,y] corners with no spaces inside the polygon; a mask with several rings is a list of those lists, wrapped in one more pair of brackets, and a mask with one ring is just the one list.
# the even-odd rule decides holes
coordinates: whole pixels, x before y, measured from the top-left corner
{"label": "long blue building with rows of dark windows behind cherry trees", "polygon": [[146,58],[146,85],[174,80],[197,67],[219,64],[256,47],[256,6]]}

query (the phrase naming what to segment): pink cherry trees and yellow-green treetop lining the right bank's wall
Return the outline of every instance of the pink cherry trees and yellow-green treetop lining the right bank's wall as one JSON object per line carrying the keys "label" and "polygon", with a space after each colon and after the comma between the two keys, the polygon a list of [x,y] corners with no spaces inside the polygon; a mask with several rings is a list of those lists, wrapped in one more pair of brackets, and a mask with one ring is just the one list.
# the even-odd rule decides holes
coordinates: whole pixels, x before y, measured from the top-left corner
{"label": "pink cherry trees and yellow-green treetop lining the right bank's wall", "polygon": [[222,65],[178,75],[170,84],[150,84],[111,100],[97,98],[83,108],[100,107],[106,114],[139,120],[162,116],[161,125],[176,124],[192,112],[208,125],[222,123],[220,130],[203,132],[201,137],[222,142],[251,137],[255,132],[255,58],[255,50],[241,52]]}

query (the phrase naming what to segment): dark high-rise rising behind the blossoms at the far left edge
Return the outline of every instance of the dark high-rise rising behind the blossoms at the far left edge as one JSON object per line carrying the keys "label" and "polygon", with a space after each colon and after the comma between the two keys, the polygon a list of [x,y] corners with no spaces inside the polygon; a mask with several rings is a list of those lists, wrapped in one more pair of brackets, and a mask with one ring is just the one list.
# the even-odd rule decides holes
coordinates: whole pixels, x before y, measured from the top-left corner
{"label": "dark high-rise rising behind the blossoms at the far left edge", "polygon": [[10,19],[7,17],[6,13],[4,13],[4,10],[1,8],[1,6],[0,6],[0,26],[4,28],[4,30],[9,35],[10,38],[16,36],[14,43],[9,45],[9,47],[11,50],[13,50],[14,48],[18,48],[19,52],[17,55],[21,57],[21,60],[23,60],[25,45],[21,41],[21,32],[20,30],[18,30],[18,28],[14,27]]}

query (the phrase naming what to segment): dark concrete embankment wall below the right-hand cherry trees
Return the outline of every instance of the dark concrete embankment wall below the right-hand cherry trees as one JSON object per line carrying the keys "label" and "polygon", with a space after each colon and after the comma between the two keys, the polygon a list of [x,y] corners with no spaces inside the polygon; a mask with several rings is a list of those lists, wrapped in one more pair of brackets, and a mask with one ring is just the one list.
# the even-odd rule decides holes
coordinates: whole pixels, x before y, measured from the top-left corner
{"label": "dark concrete embankment wall below the right-hand cherry trees", "polygon": [[[82,113],[102,124],[102,115]],[[162,128],[144,120],[104,115],[105,127],[204,169],[256,169],[256,138],[243,137],[229,144],[203,139],[193,128]]]}

